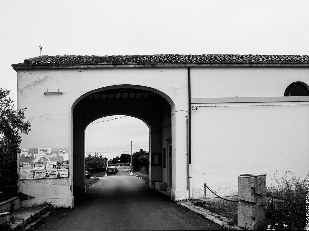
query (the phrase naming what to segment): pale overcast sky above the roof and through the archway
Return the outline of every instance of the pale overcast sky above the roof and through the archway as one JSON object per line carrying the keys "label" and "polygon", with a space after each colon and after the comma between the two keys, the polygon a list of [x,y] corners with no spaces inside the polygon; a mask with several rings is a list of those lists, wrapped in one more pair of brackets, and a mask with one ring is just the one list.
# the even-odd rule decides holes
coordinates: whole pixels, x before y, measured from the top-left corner
{"label": "pale overcast sky above the roof and through the archway", "polygon": [[[0,87],[16,105],[11,64],[39,56],[40,44],[41,55],[309,55],[308,12],[308,0],[0,0]],[[128,153],[131,140],[136,150],[149,149],[148,132],[128,116],[91,124],[86,153],[111,158]],[[102,149],[111,146],[121,147]]]}

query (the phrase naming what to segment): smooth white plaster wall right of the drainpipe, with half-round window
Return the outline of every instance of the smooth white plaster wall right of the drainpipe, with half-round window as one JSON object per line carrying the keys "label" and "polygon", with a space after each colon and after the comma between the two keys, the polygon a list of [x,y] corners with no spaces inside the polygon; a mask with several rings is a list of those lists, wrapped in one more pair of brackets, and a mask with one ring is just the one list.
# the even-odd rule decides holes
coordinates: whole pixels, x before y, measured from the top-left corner
{"label": "smooth white plaster wall right of the drainpipe, with half-round window", "polygon": [[[192,98],[206,98],[205,102],[212,97],[276,101],[271,97],[282,97],[290,83],[308,84],[309,72],[305,68],[192,69],[191,79]],[[306,178],[308,99],[224,101],[192,104],[198,107],[191,113],[193,198],[203,197],[204,183],[218,195],[237,195],[240,173],[265,173],[268,184],[275,171],[277,179],[286,171]],[[206,197],[216,196],[206,189]]]}

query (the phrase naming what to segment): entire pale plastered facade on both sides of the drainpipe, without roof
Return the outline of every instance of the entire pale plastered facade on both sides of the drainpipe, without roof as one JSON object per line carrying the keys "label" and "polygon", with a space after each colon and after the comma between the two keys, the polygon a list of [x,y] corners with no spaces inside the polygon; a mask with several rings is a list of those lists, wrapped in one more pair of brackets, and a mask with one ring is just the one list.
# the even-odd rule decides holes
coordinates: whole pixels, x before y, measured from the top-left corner
{"label": "entire pale plastered facade on both sides of the drainpipe, without roof", "polygon": [[[191,113],[192,198],[202,198],[204,183],[218,195],[236,195],[240,173],[266,173],[268,179],[275,170],[279,178],[285,171],[307,175],[309,99],[265,101],[283,97],[296,81],[309,84],[308,68],[191,68],[191,98],[198,102],[192,104],[198,110]],[[162,118],[162,126],[171,121],[170,130],[150,143],[160,144],[154,150],[161,153],[171,133],[171,196],[186,199],[187,68],[18,71],[17,107],[27,107],[26,120],[32,123],[21,147],[71,150],[74,106],[90,91],[110,86],[154,89],[171,104],[171,117]],[[47,89],[63,94],[44,95]],[[237,103],[240,97],[248,102]],[[250,103],[250,97],[261,101]],[[201,100],[194,101],[197,98]],[[210,98],[223,99],[209,103]],[[74,206],[72,152],[69,163],[68,179],[19,181],[19,190],[35,197],[28,205],[54,201],[56,206]],[[161,180],[167,180],[167,168]],[[206,196],[214,197],[210,192]]]}

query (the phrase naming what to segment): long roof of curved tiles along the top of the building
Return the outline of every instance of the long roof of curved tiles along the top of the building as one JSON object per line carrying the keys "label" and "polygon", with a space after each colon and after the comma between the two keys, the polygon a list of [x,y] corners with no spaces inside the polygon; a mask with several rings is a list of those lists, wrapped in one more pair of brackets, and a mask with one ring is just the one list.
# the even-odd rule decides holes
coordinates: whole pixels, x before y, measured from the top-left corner
{"label": "long roof of curved tiles along the top of the building", "polygon": [[[155,63],[222,63],[222,62],[309,62],[308,55],[111,55],[111,56],[45,56],[34,65],[93,65],[93,64],[155,64]],[[26,64],[26,62],[25,62]]]}

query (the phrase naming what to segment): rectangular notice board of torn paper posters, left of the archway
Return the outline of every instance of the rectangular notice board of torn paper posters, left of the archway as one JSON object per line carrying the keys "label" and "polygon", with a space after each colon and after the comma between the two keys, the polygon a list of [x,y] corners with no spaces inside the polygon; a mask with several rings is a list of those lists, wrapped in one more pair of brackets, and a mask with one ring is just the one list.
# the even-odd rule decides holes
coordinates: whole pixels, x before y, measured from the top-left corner
{"label": "rectangular notice board of torn paper posters, left of the archway", "polygon": [[[19,179],[67,178],[68,157],[68,148],[23,148],[19,154]],[[57,174],[57,170],[61,170],[60,174]]]}

